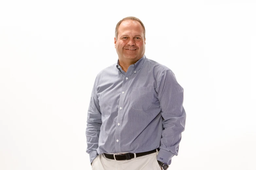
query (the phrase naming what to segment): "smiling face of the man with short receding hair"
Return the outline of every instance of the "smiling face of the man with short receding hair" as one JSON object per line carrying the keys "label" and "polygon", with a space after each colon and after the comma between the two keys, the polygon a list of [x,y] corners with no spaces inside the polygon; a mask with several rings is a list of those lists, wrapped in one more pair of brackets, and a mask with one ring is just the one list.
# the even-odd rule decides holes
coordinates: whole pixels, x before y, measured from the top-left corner
{"label": "smiling face of the man with short receding hair", "polygon": [[118,28],[118,37],[114,39],[118,58],[122,61],[138,61],[145,53],[144,30],[140,22],[126,20]]}

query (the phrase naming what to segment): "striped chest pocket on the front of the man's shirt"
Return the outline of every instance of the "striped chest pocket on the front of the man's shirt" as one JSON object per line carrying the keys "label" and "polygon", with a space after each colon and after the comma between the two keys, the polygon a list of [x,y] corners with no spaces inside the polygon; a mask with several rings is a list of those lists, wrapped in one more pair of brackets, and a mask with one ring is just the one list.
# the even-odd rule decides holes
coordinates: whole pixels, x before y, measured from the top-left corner
{"label": "striped chest pocket on the front of the man's shirt", "polygon": [[130,106],[135,110],[148,110],[152,105],[154,87],[134,88],[130,95]]}

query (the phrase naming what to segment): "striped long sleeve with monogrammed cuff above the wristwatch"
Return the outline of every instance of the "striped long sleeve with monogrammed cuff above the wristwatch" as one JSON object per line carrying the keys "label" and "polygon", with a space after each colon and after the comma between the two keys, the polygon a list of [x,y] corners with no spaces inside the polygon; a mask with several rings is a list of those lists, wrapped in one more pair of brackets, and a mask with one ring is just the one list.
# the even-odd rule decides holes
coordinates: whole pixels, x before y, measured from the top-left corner
{"label": "striped long sleeve with monogrammed cuff above the wristwatch", "polygon": [[162,138],[157,160],[171,164],[178,155],[181,132],[185,129],[186,113],[183,108],[183,88],[171,70],[162,74],[159,81],[158,99],[162,115]]}

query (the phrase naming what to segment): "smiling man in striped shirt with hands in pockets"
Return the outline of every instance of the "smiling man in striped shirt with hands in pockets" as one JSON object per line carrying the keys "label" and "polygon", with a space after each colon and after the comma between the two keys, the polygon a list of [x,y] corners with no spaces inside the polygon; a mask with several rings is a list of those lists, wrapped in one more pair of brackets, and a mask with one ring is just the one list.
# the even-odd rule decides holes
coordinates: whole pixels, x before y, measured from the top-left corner
{"label": "smiling man in striped shirt with hands in pockets", "polygon": [[178,155],[186,113],[173,72],[145,53],[135,17],[116,25],[118,61],[96,77],[87,117],[93,170],[166,170]]}

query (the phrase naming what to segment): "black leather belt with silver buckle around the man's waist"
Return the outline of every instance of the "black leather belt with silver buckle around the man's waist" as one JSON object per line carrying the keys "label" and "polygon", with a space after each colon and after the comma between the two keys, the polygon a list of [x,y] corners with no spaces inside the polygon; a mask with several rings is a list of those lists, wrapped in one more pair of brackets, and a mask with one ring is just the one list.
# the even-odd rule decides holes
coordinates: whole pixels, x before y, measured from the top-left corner
{"label": "black leather belt with silver buckle around the man's waist", "polygon": [[[158,151],[160,150],[159,148],[157,149]],[[151,153],[155,153],[156,149],[148,151],[148,152],[141,152],[141,153],[135,153],[136,154],[136,158],[137,157],[141,157],[141,156],[145,156],[145,155],[149,155]],[[113,159],[116,161],[124,161],[124,160],[130,160],[132,158],[134,158],[134,153],[124,153],[124,154],[108,154],[108,153],[103,153],[104,156],[108,159]]]}

